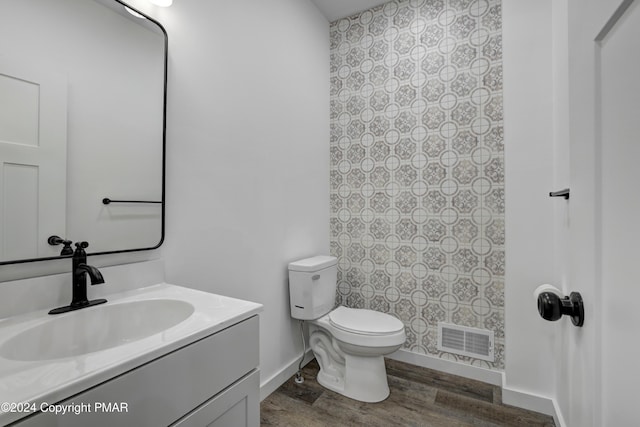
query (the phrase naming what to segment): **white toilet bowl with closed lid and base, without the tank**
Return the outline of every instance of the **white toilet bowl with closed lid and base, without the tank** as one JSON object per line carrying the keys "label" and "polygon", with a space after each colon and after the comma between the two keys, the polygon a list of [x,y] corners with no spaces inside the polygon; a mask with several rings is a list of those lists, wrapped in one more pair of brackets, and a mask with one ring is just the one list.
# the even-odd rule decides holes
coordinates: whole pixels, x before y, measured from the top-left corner
{"label": "white toilet bowl with closed lid and base, without the tank", "polygon": [[388,314],[338,307],[309,323],[309,343],[320,365],[320,385],[362,402],[389,396],[384,357],[406,339],[404,325]]}

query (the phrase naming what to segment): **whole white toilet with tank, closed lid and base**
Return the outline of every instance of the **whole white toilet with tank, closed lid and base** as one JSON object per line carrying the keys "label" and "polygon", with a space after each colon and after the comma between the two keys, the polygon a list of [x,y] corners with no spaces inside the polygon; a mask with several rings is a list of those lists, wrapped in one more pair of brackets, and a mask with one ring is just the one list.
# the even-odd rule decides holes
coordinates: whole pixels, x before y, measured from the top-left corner
{"label": "whole white toilet with tank, closed lid and base", "polygon": [[380,402],[389,396],[383,356],[404,344],[404,324],[374,310],[334,308],[337,264],[332,256],[289,264],[291,317],[309,321],[320,385],[361,402]]}

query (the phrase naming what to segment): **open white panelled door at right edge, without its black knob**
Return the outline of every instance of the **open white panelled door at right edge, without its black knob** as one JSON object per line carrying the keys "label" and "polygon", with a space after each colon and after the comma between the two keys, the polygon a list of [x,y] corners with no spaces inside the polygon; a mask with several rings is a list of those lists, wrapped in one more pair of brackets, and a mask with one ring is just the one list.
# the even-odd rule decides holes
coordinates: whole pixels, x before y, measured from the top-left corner
{"label": "open white panelled door at right edge, without its black knob", "polygon": [[568,426],[637,425],[640,378],[640,5],[569,1],[571,287],[558,396]]}

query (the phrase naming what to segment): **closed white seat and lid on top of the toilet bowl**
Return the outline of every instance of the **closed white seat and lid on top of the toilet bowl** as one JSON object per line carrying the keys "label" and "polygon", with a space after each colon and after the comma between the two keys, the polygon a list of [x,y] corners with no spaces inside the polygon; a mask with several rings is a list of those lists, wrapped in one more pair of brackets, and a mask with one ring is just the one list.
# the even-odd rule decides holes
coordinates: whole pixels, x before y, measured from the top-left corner
{"label": "closed white seat and lid on top of the toilet bowl", "polygon": [[342,331],[361,335],[390,335],[404,330],[404,324],[389,314],[342,306],[329,313],[329,322]]}

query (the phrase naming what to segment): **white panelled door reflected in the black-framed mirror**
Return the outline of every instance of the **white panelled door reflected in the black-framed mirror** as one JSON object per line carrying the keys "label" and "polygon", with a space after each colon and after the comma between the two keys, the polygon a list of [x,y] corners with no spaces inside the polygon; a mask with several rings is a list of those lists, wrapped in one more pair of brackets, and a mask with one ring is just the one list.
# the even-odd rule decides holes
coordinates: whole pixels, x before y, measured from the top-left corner
{"label": "white panelled door reflected in the black-framed mirror", "polygon": [[65,235],[66,132],[65,79],[0,57],[0,261],[59,254],[47,238]]}

